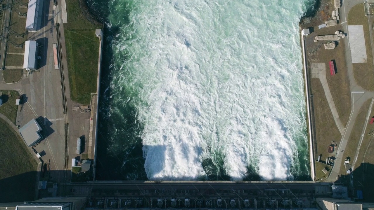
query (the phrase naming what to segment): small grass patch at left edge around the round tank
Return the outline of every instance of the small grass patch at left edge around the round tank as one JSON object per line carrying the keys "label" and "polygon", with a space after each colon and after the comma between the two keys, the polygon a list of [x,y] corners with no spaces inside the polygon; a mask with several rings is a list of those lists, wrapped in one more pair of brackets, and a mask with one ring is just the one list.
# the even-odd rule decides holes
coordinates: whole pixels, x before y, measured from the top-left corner
{"label": "small grass patch at left edge around the round tank", "polygon": [[0,106],[0,113],[5,115],[5,117],[15,124],[18,108],[16,105],[16,99],[19,98],[19,94],[14,90],[0,90],[0,92],[3,92],[3,95],[0,96],[3,100],[3,105]]}

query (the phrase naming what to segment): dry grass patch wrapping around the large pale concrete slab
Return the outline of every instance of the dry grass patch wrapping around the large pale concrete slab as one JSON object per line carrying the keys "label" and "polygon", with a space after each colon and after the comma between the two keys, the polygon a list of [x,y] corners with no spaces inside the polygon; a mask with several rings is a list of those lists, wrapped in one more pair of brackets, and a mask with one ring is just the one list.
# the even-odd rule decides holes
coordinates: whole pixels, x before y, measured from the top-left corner
{"label": "dry grass patch wrapping around the large pale concrete slab", "polygon": [[353,64],[353,74],[357,84],[362,88],[374,91],[374,68],[373,68],[373,54],[370,44],[370,29],[368,18],[365,17],[364,5],[357,4],[348,13],[349,25],[363,25],[364,37],[366,45],[366,54],[368,58],[367,63]]}

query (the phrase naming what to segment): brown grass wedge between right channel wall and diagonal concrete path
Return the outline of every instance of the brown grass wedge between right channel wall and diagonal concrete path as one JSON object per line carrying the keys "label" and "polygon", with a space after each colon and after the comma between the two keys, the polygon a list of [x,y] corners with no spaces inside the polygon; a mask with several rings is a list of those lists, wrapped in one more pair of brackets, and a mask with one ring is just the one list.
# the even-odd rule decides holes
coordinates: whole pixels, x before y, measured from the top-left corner
{"label": "brown grass wedge between right channel wall and diagonal concrete path", "polygon": [[331,156],[327,152],[331,141],[340,142],[341,134],[332,117],[321,81],[319,81],[319,78],[312,78],[311,83],[312,93],[314,94],[313,102],[317,139],[317,153],[315,154],[315,158],[317,160],[318,155],[322,155],[321,160],[325,160]]}

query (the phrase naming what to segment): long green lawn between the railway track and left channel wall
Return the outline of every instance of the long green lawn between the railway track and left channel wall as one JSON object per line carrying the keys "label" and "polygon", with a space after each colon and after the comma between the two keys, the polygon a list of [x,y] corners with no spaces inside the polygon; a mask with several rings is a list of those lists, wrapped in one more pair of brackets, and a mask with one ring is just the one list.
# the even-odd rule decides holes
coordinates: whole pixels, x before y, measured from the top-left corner
{"label": "long green lawn between the railway track and left channel wall", "polygon": [[[99,39],[95,29],[102,25],[86,18],[82,0],[67,3],[68,23],[64,24],[70,96],[80,104],[89,104],[91,93],[96,93]],[[91,18],[92,19],[92,18]]]}

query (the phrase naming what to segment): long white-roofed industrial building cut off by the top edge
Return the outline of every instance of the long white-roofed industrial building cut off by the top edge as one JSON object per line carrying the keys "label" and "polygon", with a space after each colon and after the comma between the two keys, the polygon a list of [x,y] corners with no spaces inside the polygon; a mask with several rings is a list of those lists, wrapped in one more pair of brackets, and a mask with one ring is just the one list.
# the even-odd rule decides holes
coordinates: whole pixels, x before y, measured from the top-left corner
{"label": "long white-roofed industrial building cut off by the top edge", "polygon": [[43,0],[29,0],[26,18],[26,30],[37,31],[42,22]]}

